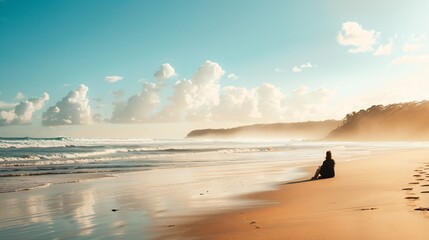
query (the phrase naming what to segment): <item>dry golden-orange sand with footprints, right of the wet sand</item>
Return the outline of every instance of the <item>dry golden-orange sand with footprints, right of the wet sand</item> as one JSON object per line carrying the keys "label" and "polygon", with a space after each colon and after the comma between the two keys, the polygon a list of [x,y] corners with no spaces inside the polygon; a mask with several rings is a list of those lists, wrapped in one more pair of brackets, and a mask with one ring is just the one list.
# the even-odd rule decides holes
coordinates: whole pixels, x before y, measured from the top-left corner
{"label": "dry golden-orange sand with footprints, right of the wet sand", "polygon": [[415,210],[429,207],[429,150],[345,162],[336,173],[246,196],[275,204],[176,225],[163,239],[429,239],[429,211]]}

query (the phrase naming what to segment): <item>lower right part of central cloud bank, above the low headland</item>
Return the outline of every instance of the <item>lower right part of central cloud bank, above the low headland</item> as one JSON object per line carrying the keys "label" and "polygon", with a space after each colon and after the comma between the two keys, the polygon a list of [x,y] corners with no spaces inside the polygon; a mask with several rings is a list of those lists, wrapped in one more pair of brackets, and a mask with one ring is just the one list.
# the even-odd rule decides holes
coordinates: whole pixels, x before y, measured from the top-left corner
{"label": "lower right part of central cloud bank, above the low headland", "polygon": [[212,120],[249,123],[324,120],[337,112],[330,105],[335,94],[335,90],[327,88],[310,90],[301,86],[285,95],[270,83],[252,89],[228,86],[222,89],[220,103],[213,108]]}

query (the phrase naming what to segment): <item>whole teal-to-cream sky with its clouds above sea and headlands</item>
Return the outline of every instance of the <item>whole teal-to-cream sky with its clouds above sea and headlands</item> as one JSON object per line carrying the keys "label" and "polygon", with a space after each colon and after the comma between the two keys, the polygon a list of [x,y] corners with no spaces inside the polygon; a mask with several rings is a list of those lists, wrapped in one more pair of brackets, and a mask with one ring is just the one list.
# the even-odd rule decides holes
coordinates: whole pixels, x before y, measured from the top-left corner
{"label": "whole teal-to-cream sky with its clouds above sea and headlands", "polygon": [[0,0],[0,136],[182,138],[429,99],[428,9]]}

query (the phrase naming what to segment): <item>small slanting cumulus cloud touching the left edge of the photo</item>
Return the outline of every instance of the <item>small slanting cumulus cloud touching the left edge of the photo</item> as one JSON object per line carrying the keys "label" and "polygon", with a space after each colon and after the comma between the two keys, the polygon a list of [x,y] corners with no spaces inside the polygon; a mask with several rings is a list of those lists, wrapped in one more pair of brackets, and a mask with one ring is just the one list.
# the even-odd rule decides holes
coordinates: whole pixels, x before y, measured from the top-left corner
{"label": "small slanting cumulus cloud touching the left edge of the photo", "polygon": [[[49,95],[43,93],[42,97],[30,98],[7,110],[0,111],[0,126],[29,124],[33,113],[40,110],[49,100]],[[9,106],[10,107],[10,106]]]}

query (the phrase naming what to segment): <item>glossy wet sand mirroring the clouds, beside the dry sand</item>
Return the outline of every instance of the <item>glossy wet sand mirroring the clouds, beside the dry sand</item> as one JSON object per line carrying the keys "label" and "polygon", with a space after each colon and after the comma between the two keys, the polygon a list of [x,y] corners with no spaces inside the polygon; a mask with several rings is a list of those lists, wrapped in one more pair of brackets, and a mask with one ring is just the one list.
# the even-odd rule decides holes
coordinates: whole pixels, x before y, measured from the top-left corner
{"label": "glossy wet sand mirroring the clouds, beside the dry sand", "polygon": [[267,189],[264,183],[268,175],[271,182],[282,181],[285,176],[302,176],[292,168],[279,168],[279,163],[266,163],[262,170],[258,164],[231,165],[222,171],[219,168],[133,172],[118,178],[4,193],[0,201],[0,236],[151,239],[160,228],[178,224],[178,216],[243,205],[229,197]]}

